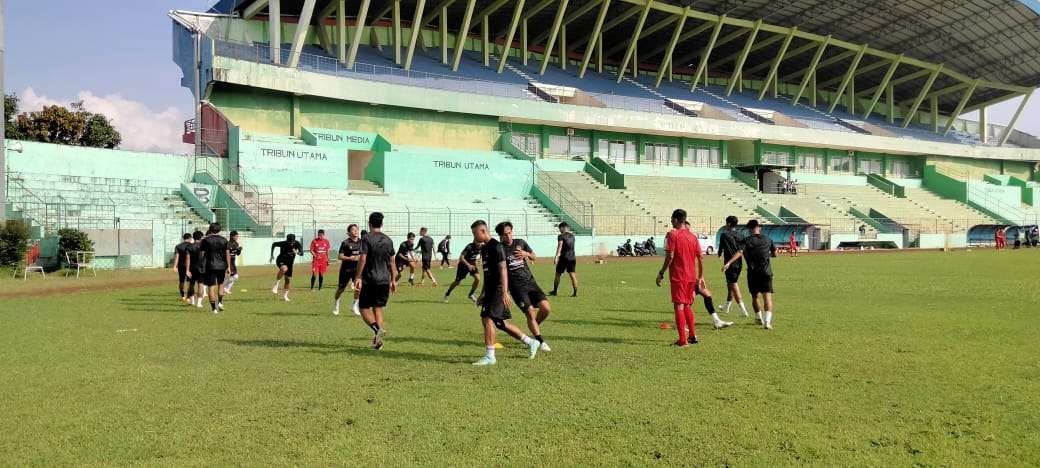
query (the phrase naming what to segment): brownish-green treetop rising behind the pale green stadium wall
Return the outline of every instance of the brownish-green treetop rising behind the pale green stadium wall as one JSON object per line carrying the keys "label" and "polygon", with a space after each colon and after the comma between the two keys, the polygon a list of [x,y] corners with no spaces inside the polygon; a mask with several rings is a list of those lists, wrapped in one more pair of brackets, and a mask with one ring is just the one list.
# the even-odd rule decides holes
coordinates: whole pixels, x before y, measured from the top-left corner
{"label": "brownish-green treetop rising behind the pale green stadium wall", "polygon": [[[8,119],[18,112],[18,98],[4,97],[4,112]],[[64,106],[44,106],[42,110],[21,113],[8,120],[4,129],[7,138],[71,145],[77,147],[115,148],[123,141],[119,130],[103,114],[88,112],[83,102]]]}

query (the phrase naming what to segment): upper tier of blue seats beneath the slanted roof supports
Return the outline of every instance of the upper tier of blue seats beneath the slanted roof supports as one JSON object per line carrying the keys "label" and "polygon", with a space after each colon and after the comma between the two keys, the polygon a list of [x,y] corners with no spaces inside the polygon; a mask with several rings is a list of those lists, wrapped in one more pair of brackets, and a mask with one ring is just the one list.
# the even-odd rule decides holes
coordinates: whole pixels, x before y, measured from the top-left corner
{"label": "upper tier of blue seats beneath the slanted roof supports", "polygon": [[[218,55],[246,60],[272,63],[269,45],[252,45],[217,42]],[[283,44],[282,61],[289,59],[291,45]],[[804,102],[791,105],[785,96],[765,96],[761,100],[755,93],[734,90],[727,96],[725,86],[718,84],[699,85],[691,90],[691,83],[683,80],[665,80],[654,87],[654,76],[640,75],[617,80],[616,74],[588,71],[579,77],[574,68],[563,70],[549,67],[540,74],[536,62],[523,66],[511,61],[503,73],[496,72],[497,58],[490,59],[491,66],[484,67],[479,52],[466,51],[462,55],[459,70],[451,69],[434,56],[435,52],[416,51],[411,70],[404,70],[394,63],[393,51],[381,51],[374,47],[360,46],[358,61],[353,68],[339,62],[324,49],[307,45],[300,59],[302,70],[348,76],[366,80],[405,84],[418,87],[474,93],[490,96],[511,97],[524,100],[540,100],[561,105],[580,105],[612,109],[635,110],[665,114],[687,114],[706,119],[759,123],[787,127],[812,128],[837,132],[876,134],[907,139],[924,139],[948,144],[980,145],[977,135],[961,130],[948,134],[934,132],[928,126],[912,123],[906,128],[887,122],[883,116],[872,114],[867,119],[854,115],[839,108],[831,111],[826,105],[812,107]],[[995,145],[995,140],[987,144]]]}

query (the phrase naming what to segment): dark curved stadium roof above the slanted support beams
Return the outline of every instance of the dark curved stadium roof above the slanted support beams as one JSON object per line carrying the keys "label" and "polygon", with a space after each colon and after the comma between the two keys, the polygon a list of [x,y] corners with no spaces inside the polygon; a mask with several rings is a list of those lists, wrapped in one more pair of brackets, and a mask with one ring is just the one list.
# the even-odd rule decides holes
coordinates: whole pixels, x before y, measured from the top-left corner
{"label": "dark curved stadium roof above the slanted support beams", "polygon": [[[379,20],[375,15],[388,15],[392,0],[370,1],[366,23]],[[449,28],[457,30],[469,1],[425,3],[424,24],[436,27],[433,20],[440,6],[446,6]],[[474,1],[475,11],[490,11],[492,37],[501,40],[519,0]],[[327,6],[333,2],[316,0],[315,11],[330,10]],[[211,11],[264,15],[266,3],[222,0]],[[296,16],[304,3],[282,0],[282,14]],[[361,0],[346,3],[347,17],[356,17]],[[411,19],[416,3],[401,0],[405,21]],[[934,97],[941,112],[956,113],[958,107],[969,111],[1040,84],[1040,0],[526,0],[523,15],[530,49],[544,49],[564,6],[567,49],[580,56],[604,3],[608,6],[602,37],[608,63],[624,62],[632,37],[639,34],[640,67],[656,70],[668,54],[676,25],[683,23],[672,58],[676,70],[686,68],[691,74],[714,35],[708,73],[730,76],[747,51],[740,76],[764,79],[790,35],[777,69],[780,81],[798,84],[816,61],[818,88],[840,89],[851,74],[862,99],[872,99],[887,82],[901,105]],[[713,26],[720,21],[716,32]],[[476,22],[474,16],[471,28]],[[823,52],[814,60],[821,47]],[[922,104],[929,107],[928,99]]]}

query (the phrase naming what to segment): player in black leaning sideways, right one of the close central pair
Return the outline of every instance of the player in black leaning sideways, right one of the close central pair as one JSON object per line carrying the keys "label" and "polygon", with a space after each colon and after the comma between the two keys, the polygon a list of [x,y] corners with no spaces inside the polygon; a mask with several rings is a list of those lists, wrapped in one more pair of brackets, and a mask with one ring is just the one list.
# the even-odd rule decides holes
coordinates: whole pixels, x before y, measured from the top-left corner
{"label": "player in black leaning sideways, right one of the close central pair", "polygon": [[529,261],[535,261],[535,251],[523,239],[513,237],[513,224],[510,222],[499,223],[495,226],[495,233],[505,250],[508,259],[505,266],[510,272],[510,295],[517,307],[527,316],[527,331],[535,335],[544,352],[549,349],[549,343],[542,338],[542,322],[549,317],[552,311],[549,300],[542,292],[542,288],[535,281],[535,275],[528,266]]}

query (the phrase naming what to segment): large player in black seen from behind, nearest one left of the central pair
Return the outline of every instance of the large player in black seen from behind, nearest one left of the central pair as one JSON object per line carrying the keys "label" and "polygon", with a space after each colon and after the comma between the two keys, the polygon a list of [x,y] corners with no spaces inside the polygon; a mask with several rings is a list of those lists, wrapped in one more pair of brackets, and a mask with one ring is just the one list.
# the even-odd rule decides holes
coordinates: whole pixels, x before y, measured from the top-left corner
{"label": "large player in black seen from behind, nearest one left of the central pair", "polygon": [[397,290],[397,269],[394,268],[393,240],[383,234],[383,213],[368,215],[368,234],[361,238],[361,256],[354,274],[354,289],[360,291],[358,307],[361,319],[372,330],[372,349],[383,348],[383,310],[390,293]]}

